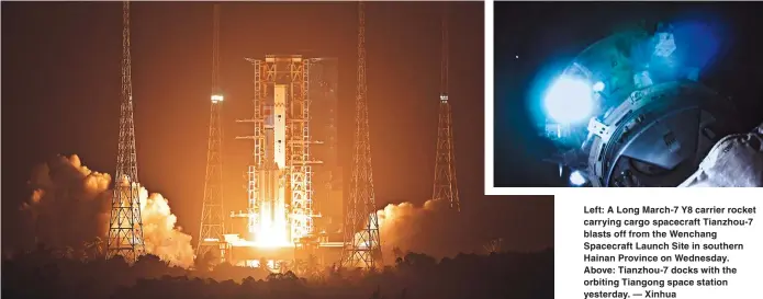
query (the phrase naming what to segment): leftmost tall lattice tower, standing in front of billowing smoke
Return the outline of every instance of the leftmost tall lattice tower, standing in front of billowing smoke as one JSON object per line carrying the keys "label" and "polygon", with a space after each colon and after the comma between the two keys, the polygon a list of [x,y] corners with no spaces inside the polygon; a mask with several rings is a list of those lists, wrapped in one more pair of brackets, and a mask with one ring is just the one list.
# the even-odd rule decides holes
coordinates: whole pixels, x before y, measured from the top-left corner
{"label": "leftmost tall lattice tower, standing in front of billowing smoke", "polygon": [[133,83],[130,58],[130,2],[122,3],[122,104],[120,115],[120,145],[114,175],[114,196],[111,199],[106,258],[122,255],[135,262],[145,253],[143,220],[135,154],[135,124],[133,120]]}

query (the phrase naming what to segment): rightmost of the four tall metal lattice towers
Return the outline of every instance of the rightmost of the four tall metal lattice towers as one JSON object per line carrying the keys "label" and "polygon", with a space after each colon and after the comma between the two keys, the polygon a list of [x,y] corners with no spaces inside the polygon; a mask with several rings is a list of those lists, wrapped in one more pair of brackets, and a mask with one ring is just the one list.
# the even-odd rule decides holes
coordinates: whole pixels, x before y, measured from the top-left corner
{"label": "rightmost of the four tall metal lattice towers", "polygon": [[461,204],[456,184],[456,153],[450,102],[448,102],[448,9],[442,12],[442,56],[440,64],[440,113],[437,126],[437,157],[435,161],[434,199],[448,200],[460,211]]}

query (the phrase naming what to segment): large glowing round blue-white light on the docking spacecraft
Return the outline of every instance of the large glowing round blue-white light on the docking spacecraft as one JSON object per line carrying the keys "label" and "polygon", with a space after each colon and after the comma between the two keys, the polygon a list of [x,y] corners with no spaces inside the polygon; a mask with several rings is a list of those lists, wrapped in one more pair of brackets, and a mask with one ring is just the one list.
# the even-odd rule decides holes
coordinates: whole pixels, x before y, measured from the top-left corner
{"label": "large glowing round blue-white light on the docking spacecraft", "polygon": [[585,81],[561,77],[546,94],[545,106],[548,116],[557,123],[587,120],[594,107],[593,90]]}

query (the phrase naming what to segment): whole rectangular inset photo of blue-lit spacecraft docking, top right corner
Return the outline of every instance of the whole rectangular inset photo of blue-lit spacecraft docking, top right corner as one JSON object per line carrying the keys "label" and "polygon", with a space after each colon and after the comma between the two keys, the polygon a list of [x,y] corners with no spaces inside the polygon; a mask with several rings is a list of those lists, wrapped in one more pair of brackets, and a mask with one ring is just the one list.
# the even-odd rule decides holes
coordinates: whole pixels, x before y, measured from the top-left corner
{"label": "whole rectangular inset photo of blue-lit spacecraft docking, top right corner", "polygon": [[493,187],[763,185],[760,11],[495,2]]}

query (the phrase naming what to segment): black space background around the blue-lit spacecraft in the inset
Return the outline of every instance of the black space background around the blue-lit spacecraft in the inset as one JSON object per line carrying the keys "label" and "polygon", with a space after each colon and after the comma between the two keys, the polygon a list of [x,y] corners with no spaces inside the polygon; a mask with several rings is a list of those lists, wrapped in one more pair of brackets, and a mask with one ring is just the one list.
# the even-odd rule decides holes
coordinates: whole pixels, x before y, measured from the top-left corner
{"label": "black space background around the blue-lit spacecraft in the inset", "polygon": [[725,45],[700,80],[733,96],[753,128],[763,120],[760,11],[761,2],[496,2],[495,185],[568,186],[541,162],[553,147],[528,113],[540,101],[532,94],[585,47],[640,21],[720,24]]}

